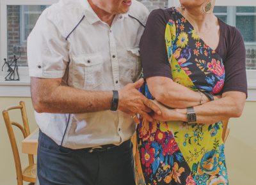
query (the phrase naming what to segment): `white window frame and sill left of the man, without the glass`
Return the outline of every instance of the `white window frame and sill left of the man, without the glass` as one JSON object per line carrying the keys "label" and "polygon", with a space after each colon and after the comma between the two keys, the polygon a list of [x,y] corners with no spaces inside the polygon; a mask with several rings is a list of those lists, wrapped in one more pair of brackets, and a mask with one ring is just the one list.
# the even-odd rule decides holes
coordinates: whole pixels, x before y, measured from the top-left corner
{"label": "white window frame and sill left of the man, without the glass", "polygon": [[[3,66],[3,59],[8,56],[7,6],[51,5],[57,2],[58,0],[0,0],[0,69]],[[30,78],[28,74],[28,67],[19,66],[20,81],[5,81],[6,72],[0,70],[0,96],[30,97]],[[20,91],[17,91],[17,89]]]}

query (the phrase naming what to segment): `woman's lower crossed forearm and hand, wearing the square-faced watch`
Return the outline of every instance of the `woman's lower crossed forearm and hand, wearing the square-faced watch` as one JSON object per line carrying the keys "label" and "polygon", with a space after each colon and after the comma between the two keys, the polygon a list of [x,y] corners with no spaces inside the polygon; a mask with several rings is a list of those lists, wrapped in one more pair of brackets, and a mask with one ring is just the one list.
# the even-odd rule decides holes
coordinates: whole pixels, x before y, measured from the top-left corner
{"label": "woman's lower crossed forearm and hand, wearing the square-faced watch", "polygon": [[[203,124],[211,124],[214,122],[229,119],[230,117],[240,117],[246,94],[238,91],[228,91],[223,93],[219,100],[209,101],[203,105],[198,105],[195,108],[196,122]],[[162,115],[153,115],[154,119],[159,121],[188,121],[186,108],[166,108],[161,107]]]}

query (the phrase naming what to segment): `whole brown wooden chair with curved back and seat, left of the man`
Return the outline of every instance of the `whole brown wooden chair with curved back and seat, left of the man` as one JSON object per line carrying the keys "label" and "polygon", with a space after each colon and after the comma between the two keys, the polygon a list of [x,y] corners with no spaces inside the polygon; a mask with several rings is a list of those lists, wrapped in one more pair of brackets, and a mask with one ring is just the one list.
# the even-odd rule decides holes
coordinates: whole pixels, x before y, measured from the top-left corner
{"label": "whole brown wooden chair with curved back and seat, left of the man", "polygon": [[[11,121],[9,111],[15,109],[20,110],[23,125],[19,124],[18,122]],[[22,170],[17,142],[12,128],[12,126],[17,126],[22,131],[24,138],[28,137],[28,135],[30,134],[25,103],[23,101],[20,101],[20,105],[9,107],[6,110],[3,110],[3,117],[4,122],[6,124],[6,129],[8,131],[8,136],[10,138],[10,142],[12,145],[12,152],[17,174],[17,184],[23,185],[23,181],[26,181],[31,182],[29,183],[29,185],[32,185],[36,182],[36,164],[34,163],[34,157],[31,154],[28,155],[29,166]]]}

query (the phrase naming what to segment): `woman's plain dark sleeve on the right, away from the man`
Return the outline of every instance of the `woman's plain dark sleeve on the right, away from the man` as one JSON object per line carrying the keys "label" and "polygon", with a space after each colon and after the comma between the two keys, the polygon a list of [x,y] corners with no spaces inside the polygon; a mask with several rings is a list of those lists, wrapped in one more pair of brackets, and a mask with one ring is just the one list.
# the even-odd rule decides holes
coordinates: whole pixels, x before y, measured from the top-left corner
{"label": "woman's plain dark sleeve on the right, away from the man", "polygon": [[247,96],[247,80],[245,67],[245,47],[241,33],[233,27],[229,34],[230,45],[224,61],[226,77],[223,93],[240,91]]}

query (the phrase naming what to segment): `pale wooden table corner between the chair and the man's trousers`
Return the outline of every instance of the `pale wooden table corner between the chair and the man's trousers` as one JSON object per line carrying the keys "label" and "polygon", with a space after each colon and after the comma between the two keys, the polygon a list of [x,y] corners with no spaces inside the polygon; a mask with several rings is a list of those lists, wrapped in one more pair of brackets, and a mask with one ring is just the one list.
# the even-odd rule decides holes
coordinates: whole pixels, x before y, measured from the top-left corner
{"label": "pale wooden table corner between the chair and the man's trousers", "polygon": [[21,151],[24,154],[37,154],[39,129],[37,128],[21,142]]}

